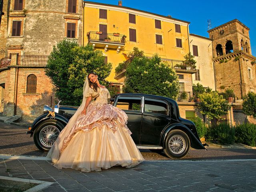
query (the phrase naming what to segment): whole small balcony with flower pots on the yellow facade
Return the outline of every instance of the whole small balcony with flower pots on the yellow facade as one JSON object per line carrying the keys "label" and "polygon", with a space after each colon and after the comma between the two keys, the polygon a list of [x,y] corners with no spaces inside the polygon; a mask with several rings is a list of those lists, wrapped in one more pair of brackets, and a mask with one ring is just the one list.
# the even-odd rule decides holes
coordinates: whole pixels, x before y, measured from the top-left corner
{"label": "whole small balcony with flower pots on the yellow facade", "polygon": [[101,33],[90,31],[88,34],[88,42],[93,47],[104,48],[106,52],[109,49],[116,49],[119,53],[120,49],[124,47],[125,35],[113,34],[113,33]]}

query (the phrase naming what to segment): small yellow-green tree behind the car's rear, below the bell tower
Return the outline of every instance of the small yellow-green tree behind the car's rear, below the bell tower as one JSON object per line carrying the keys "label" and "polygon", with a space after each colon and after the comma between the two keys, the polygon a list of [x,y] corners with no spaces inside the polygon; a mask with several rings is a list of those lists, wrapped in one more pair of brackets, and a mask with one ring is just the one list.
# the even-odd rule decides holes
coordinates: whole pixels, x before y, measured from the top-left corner
{"label": "small yellow-green tree behind the car's rear, below the bell tower", "polygon": [[[219,120],[222,115],[227,114],[230,106],[226,99],[217,92],[202,93],[198,95],[200,98],[200,103],[198,103],[198,108],[202,115],[206,115],[209,120]],[[213,124],[214,121],[212,121]]]}

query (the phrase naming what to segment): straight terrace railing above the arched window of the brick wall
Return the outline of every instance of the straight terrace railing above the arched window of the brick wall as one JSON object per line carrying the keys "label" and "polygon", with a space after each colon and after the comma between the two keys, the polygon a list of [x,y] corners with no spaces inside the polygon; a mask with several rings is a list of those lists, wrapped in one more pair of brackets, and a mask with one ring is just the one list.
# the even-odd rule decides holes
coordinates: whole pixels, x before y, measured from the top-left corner
{"label": "straight terrace railing above the arched window of the brick wall", "polygon": [[20,55],[18,65],[20,66],[46,66],[48,55]]}

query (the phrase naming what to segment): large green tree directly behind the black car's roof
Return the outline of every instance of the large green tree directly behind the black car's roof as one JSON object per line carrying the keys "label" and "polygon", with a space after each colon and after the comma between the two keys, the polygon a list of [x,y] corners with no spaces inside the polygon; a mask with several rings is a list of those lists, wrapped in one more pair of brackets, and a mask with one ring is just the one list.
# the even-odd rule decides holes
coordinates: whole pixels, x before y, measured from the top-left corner
{"label": "large green tree directly behind the black car's roof", "polygon": [[124,91],[160,95],[175,99],[179,92],[178,76],[172,68],[161,62],[158,54],[147,58],[138,48],[126,68]]}

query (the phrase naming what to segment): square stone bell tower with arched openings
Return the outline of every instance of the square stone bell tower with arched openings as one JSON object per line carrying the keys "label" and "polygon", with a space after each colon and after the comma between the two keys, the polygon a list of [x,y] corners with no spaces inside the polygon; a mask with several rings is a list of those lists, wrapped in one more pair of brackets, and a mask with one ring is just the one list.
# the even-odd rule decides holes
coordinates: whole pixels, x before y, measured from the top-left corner
{"label": "square stone bell tower with arched openings", "polygon": [[233,89],[237,99],[256,92],[256,57],[250,49],[249,30],[237,19],[208,30],[213,40],[216,90]]}

